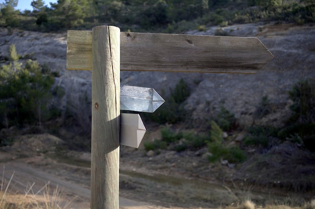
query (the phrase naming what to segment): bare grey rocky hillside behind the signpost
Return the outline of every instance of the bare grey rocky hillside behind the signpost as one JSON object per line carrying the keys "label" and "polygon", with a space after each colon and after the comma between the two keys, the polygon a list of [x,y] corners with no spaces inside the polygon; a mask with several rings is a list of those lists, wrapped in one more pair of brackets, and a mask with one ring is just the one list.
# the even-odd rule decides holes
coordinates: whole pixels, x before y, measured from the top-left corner
{"label": "bare grey rocky hillside behind the signpost", "polygon": [[[211,27],[206,32],[187,34],[217,32],[217,27]],[[274,59],[255,75],[121,72],[121,85],[152,87],[157,92],[164,89],[168,93],[183,78],[191,90],[185,108],[192,112],[191,120],[195,124],[210,118],[213,110],[221,105],[240,118],[241,123],[253,124],[253,113],[267,95],[273,112],[255,123],[281,126],[289,116],[287,91],[299,80],[315,78],[315,26],[247,24],[224,27],[222,32],[229,36],[258,37]],[[46,63],[52,71],[59,72],[56,85],[66,92],[60,107],[65,109],[69,105],[69,109],[80,115],[81,123],[89,121],[91,71],[66,71],[66,34],[28,31],[9,34],[7,29],[0,29],[0,43],[1,60],[8,56],[9,46],[15,44],[19,54],[40,64]]]}

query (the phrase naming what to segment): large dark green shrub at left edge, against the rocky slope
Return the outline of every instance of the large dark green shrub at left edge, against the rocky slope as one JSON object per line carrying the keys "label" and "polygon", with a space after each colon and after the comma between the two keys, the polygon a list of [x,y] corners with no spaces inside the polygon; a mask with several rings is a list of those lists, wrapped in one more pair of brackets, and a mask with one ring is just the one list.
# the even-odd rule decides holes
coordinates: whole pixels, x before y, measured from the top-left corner
{"label": "large dark green shrub at left edge, against the rocky slope", "polygon": [[42,74],[39,64],[19,62],[15,46],[9,48],[10,64],[0,71],[0,120],[2,125],[38,124],[50,118],[49,101],[54,78]]}

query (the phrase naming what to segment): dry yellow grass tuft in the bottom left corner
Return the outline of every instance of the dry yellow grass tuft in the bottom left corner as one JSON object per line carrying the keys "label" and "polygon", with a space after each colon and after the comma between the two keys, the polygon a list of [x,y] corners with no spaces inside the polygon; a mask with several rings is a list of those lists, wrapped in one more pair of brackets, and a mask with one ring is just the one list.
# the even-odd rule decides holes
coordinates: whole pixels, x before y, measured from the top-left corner
{"label": "dry yellow grass tuft in the bottom left corner", "polygon": [[[25,194],[10,194],[9,187],[12,183],[14,173],[6,183],[4,173],[0,190],[0,208],[1,209],[66,209],[69,208],[72,201],[68,200],[65,193],[57,186],[50,190],[49,182],[41,187],[37,192],[33,190],[35,183],[25,189]],[[5,184],[7,184],[5,186]]]}

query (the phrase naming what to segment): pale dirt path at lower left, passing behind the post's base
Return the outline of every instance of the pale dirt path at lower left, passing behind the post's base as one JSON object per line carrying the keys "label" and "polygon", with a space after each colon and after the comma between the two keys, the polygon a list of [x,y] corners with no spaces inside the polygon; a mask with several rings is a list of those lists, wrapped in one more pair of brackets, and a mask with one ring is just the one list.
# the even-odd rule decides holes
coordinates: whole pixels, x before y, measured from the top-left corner
{"label": "pale dirt path at lower left, passing behind the post's base", "polygon": [[[55,166],[53,166],[55,167]],[[0,163],[0,172],[4,174],[5,181],[9,181],[13,175],[13,180],[10,184],[10,192],[25,193],[25,190],[34,184],[32,187],[33,192],[40,190],[47,182],[49,182],[50,189],[57,186],[66,193],[66,196],[70,198],[77,196],[75,201],[71,204],[72,208],[86,209],[90,208],[90,194],[91,190],[81,184],[76,184],[63,180],[62,177],[53,175],[49,172],[45,172],[40,168],[34,168],[32,165],[23,163],[21,161],[10,161],[7,163]],[[148,203],[134,201],[123,197],[119,198],[120,208],[124,209],[152,209],[161,208],[156,205],[150,205]]]}

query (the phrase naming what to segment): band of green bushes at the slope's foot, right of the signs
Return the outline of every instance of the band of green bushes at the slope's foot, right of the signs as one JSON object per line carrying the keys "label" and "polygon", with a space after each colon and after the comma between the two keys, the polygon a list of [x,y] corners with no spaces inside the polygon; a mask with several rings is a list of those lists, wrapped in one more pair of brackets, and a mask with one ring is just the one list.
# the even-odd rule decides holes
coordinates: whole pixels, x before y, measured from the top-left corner
{"label": "band of green bushes at the slope's foot, right of the signs", "polygon": [[[186,87],[183,83],[184,81],[181,81],[176,86],[176,92],[185,91]],[[171,95],[174,96],[174,92]],[[178,93],[177,95],[182,94]],[[180,97],[183,98],[180,101],[184,102],[186,100],[186,96]],[[253,149],[253,147],[261,150],[262,153],[266,153],[274,146],[284,142],[295,143],[296,146],[304,147],[313,152],[315,151],[314,82],[312,80],[297,82],[288,91],[288,97],[292,101],[290,106],[292,112],[291,117],[282,128],[255,124],[250,127],[240,127],[234,114],[222,106],[216,114],[209,118],[206,132],[180,131],[167,125],[161,128],[161,138],[145,141],[144,148],[146,151],[153,150],[155,154],[159,154],[163,149],[182,152],[185,150],[198,151],[207,147],[208,154],[205,154],[207,154],[210,162],[227,160],[229,163],[243,162],[247,158],[247,151]],[[181,103],[179,104],[181,105]],[[170,116],[170,120],[160,121],[160,124],[172,124],[174,122],[172,120],[173,111],[172,108],[163,107],[163,115]],[[257,107],[255,117],[263,118],[271,113],[268,96],[263,96]],[[156,116],[155,119],[159,118],[160,116]],[[183,121],[185,121],[185,118],[183,118]],[[156,120],[156,122],[159,122],[159,120]],[[189,126],[192,126],[192,124],[188,124]],[[225,136],[223,131],[225,131]],[[246,134],[244,140],[239,141],[235,138],[238,134],[234,135],[234,133],[240,131],[245,131]]]}

